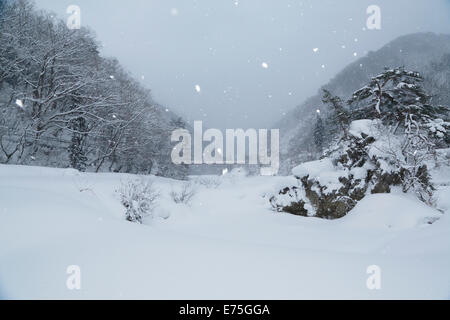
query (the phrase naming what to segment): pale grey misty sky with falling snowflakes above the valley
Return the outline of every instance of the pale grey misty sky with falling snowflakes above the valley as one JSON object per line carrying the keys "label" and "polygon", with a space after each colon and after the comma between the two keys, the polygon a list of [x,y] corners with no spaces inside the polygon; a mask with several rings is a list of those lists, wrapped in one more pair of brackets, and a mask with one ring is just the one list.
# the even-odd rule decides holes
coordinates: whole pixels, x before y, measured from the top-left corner
{"label": "pale grey misty sky with falling snowflakes above the valley", "polygon": [[[404,34],[450,33],[449,0],[36,4],[64,19],[68,5],[80,6],[82,25],[95,31],[105,56],[117,57],[157,102],[217,128],[268,127],[367,51]],[[365,29],[373,4],[381,30]]]}

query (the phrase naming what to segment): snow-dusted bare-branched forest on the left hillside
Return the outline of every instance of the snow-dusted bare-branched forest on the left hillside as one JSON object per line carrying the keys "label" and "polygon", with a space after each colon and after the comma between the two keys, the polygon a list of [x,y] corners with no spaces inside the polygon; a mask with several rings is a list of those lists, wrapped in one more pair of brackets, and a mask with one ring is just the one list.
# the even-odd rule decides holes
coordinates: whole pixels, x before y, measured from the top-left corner
{"label": "snow-dusted bare-branched forest on the left hillside", "polygon": [[28,0],[0,16],[0,163],[184,178],[170,133],[185,128],[85,28]]}

